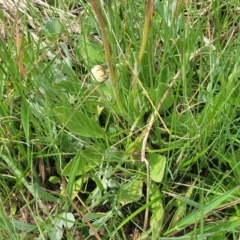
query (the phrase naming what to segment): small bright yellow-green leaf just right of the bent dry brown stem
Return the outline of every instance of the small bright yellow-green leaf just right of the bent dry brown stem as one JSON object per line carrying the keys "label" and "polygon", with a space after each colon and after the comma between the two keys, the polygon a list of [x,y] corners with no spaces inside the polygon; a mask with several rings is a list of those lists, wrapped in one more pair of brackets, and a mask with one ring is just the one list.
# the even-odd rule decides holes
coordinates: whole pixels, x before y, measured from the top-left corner
{"label": "small bright yellow-green leaf just right of the bent dry brown stem", "polygon": [[155,182],[161,182],[165,172],[166,157],[151,153],[148,155],[148,161],[151,179]]}

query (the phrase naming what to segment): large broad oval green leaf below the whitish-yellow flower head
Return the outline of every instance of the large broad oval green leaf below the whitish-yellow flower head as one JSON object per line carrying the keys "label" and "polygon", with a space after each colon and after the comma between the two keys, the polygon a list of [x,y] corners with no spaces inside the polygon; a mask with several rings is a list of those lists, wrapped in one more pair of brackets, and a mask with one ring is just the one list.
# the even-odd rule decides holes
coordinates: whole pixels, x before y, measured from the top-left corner
{"label": "large broad oval green leaf below the whitish-yellow flower head", "polygon": [[82,112],[64,106],[54,108],[53,112],[59,122],[74,134],[92,138],[104,137],[102,128]]}

